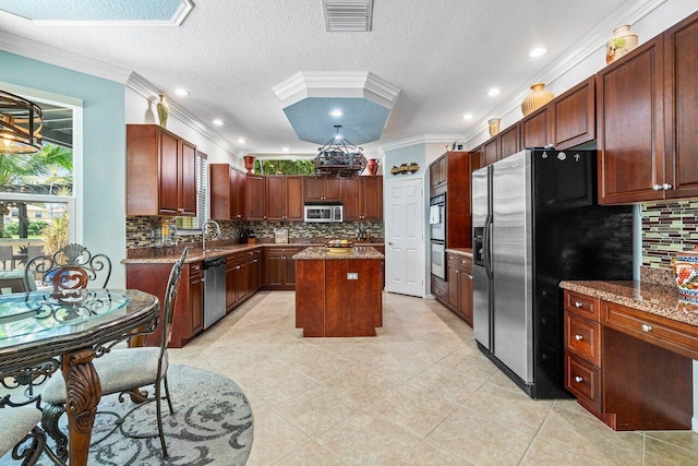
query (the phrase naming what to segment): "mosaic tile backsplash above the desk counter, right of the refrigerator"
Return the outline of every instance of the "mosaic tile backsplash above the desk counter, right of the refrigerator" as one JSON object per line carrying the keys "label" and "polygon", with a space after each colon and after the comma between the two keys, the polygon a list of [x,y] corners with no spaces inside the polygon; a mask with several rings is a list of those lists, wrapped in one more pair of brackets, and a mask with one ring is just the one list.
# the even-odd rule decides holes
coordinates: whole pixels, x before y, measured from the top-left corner
{"label": "mosaic tile backsplash above the desk counter, right of the refrigerator", "polygon": [[641,205],[642,265],[671,268],[678,251],[698,244],[698,200]]}

